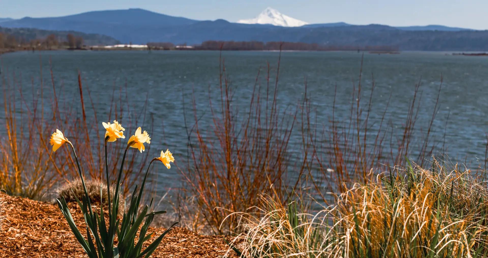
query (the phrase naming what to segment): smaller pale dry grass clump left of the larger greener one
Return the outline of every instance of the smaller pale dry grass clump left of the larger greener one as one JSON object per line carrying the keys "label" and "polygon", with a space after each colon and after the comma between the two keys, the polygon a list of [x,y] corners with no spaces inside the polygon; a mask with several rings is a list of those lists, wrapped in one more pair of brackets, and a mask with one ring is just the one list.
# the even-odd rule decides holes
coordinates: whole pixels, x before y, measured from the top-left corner
{"label": "smaller pale dry grass clump left of the larger greener one", "polygon": [[[244,232],[229,243],[227,255],[240,257],[320,257],[326,239],[327,216],[299,213],[297,202],[284,205],[272,195],[260,197],[262,205],[250,213],[234,213]],[[329,211],[326,211],[326,213]]]}

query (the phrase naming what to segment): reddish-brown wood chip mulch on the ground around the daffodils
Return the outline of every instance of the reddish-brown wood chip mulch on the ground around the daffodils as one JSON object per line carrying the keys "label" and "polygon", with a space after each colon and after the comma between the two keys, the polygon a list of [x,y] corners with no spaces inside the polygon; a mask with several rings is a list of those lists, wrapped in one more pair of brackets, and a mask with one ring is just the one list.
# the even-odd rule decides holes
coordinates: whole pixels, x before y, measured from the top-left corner
{"label": "reddish-brown wood chip mulch on the ground around the daffodils", "polygon": [[[0,201],[0,217],[4,216],[0,221],[0,258],[87,257],[56,204],[6,194],[0,194]],[[76,204],[72,205],[71,212],[76,223],[84,225]],[[151,230],[155,237],[164,231]],[[228,249],[223,238],[202,236],[177,227],[163,238],[152,257],[223,257]]]}

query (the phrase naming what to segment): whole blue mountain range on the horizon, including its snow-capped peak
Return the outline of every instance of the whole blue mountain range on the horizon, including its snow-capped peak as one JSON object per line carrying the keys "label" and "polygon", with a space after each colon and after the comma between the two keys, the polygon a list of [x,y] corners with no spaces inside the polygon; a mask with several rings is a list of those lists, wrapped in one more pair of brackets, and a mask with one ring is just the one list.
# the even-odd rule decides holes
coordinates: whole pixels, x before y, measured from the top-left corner
{"label": "whole blue mountain range on the horizon, including its snow-capped peak", "polygon": [[266,8],[258,17],[229,22],[198,21],[143,9],[0,20],[1,27],[74,30],[111,36],[122,43],[218,41],[286,41],[348,46],[397,46],[401,50],[488,50],[488,31],[442,25],[392,27],[345,22],[307,24]]}

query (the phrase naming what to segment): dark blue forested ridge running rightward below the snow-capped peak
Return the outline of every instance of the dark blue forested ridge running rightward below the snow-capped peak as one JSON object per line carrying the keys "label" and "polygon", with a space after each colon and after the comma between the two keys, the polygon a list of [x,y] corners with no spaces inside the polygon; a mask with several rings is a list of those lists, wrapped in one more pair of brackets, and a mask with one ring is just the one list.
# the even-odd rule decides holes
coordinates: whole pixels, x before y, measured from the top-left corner
{"label": "dark blue forested ridge running rightward below the snow-capped peak", "polygon": [[400,50],[487,51],[488,31],[412,31],[386,25],[335,27],[279,27],[202,21],[179,28],[167,28],[153,36],[155,41],[201,43],[221,41],[285,41],[331,46],[398,46]]}

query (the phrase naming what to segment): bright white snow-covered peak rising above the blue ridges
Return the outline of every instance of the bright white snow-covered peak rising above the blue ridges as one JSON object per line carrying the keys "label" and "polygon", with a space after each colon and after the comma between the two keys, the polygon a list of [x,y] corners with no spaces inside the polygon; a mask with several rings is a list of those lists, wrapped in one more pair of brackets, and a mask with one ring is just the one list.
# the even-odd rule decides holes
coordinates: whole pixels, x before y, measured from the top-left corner
{"label": "bright white snow-covered peak rising above the blue ridges", "polygon": [[239,20],[237,23],[246,23],[246,24],[273,24],[275,26],[283,26],[283,27],[299,27],[308,24],[308,22],[300,21],[295,18],[291,18],[286,16],[277,10],[268,7],[261,12],[258,17],[254,19],[247,19],[247,20]]}

